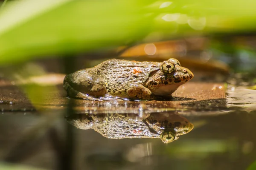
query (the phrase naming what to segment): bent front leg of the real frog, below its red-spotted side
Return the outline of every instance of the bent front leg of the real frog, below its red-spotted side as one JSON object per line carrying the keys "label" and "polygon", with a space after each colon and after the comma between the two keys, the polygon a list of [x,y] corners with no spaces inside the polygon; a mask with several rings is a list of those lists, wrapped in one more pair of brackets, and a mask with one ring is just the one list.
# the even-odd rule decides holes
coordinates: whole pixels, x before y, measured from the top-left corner
{"label": "bent front leg of the real frog, below its red-spotted side", "polygon": [[156,96],[152,92],[145,88],[142,84],[132,84],[128,89],[127,93],[130,99],[155,99]]}

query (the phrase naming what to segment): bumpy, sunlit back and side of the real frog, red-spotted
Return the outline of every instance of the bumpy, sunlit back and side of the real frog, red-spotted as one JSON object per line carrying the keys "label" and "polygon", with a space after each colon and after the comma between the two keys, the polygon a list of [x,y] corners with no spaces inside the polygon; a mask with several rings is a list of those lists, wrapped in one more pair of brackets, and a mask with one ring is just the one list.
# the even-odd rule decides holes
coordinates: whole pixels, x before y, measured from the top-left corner
{"label": "bumpy, sunlit back and side of the real frog, red-spotted", "polygon": [[109,59],[88,71],[104,79],[108,92],[120,94],[131,84],[145,82],[152,71],[159,70],[159,65],[160,62]]}

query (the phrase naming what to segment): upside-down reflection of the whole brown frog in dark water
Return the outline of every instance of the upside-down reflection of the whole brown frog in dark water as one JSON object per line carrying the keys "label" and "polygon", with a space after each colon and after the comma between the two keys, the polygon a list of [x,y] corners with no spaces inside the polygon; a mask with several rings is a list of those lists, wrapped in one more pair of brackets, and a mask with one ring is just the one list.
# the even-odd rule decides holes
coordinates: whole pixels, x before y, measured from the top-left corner
{"label": "upside-down reflection of the whole brown frog in dark water", "polygon": [[151,113],[138,121],[137,114],[73,114],[67,121],[80,129],[94,129],[109,139],[160,138],[164,143],[177,140],[193,129],[178,113]]}

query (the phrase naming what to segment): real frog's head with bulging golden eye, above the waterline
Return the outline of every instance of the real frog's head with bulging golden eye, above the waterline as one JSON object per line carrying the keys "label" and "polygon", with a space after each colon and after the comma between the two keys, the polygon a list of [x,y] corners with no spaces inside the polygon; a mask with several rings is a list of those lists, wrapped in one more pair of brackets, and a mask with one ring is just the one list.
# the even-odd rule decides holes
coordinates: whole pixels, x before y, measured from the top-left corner
{"label": "real frog's head with bulging golden eye, above the waterline", "polygon": [[162,62],[159,70],[150,73],[145,87],[156,96],[167,96],[193,77],[189,69],[181,67],[177,59],[171,58]]}

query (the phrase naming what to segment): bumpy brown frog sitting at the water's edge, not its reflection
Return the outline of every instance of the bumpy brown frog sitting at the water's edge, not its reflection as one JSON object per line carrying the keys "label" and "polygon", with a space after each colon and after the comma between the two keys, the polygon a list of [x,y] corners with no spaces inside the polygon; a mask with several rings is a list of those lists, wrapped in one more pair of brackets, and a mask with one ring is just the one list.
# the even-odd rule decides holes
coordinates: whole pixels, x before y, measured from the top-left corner
{"label": "bumpy brown frog sitting at the water's edge, not its reflection", "polygon": [[64,89],[68,97],[79,99],[153,100],[172,96],[193,77],[175,58],[163,62],[108,59],[66,75]]}

